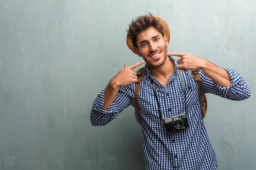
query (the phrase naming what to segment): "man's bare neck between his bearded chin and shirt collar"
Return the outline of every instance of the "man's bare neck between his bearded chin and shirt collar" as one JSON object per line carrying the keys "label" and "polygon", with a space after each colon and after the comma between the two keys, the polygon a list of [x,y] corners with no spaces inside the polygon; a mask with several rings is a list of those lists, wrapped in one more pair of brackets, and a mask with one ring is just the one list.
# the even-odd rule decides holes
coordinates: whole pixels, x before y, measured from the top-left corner
{"label": "man's bare neck between his bearded chin and shirt collar", "polygon": [[169,57],[166,57],[166,60],[163,63],[163,65],[159,67],[152,67],[148,65],[148,68],[150,70],[151,76],[155,78],[159,78],[159,77],[169,78],[175,69],[175,64],[174,62],[171,62],[169,60]]}

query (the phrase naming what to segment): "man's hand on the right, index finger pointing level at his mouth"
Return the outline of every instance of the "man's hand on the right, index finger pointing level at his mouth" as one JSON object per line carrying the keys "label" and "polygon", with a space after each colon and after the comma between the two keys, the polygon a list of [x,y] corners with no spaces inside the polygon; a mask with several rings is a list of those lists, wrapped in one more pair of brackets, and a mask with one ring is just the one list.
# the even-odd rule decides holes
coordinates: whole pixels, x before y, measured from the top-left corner
{"label": "man's hand on the right, index finger pointing level at his mouth", "polygon": [[196,57],[192,54],[188,53],[167,53],[167,56],[177,56],[180,57],[180,59],[177,60],[177,68],[179,70],[187,71],[187,70],[201,70],[201,68],[205,67],[207,65],[207,60]]}

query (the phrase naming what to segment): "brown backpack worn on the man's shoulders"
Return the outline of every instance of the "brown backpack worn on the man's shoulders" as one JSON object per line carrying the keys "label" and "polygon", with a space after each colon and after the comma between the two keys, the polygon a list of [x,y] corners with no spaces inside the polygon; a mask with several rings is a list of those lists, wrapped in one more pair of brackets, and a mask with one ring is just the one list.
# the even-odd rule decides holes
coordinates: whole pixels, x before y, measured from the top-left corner
{"label": "brown backpack worn on the man's shoulders", "polygon": [[[139,89],[140,89],[140,81],[143,80],[145,73],[145,68],[142,67],[137,71],[137,82],[135,84],[135,90],[134,90],[134,102],[135,102],[135,107],[136,107],[136,112],[137,116],[140,120],[140,108],[139,108]],[[204,116],[206,115],[207,111],[207,98],[206,95],[203,95],[203,98],[201,99],[201,79],[200,79],[200,74],[199,71],[191,71],[192,78],[195,79],[196,84],[198,86],[198,96],[199,96],[199,103],[201,106],[201,116],[204,119]],[[141,122],[141,120],[140,120]]]}

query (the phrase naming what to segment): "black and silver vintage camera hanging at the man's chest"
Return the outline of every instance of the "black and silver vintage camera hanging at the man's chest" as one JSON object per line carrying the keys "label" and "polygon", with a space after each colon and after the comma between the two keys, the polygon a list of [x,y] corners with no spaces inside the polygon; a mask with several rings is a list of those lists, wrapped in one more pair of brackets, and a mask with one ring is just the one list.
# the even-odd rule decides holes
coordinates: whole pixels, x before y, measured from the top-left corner
{"label": "black and silver vintage camera hanging at the man's chest", "polygon": [[164,126],[166,127],[167,133],[173,133],[177,130],[189,128],[189,121],[185,113],[180,113],[164,119]]}

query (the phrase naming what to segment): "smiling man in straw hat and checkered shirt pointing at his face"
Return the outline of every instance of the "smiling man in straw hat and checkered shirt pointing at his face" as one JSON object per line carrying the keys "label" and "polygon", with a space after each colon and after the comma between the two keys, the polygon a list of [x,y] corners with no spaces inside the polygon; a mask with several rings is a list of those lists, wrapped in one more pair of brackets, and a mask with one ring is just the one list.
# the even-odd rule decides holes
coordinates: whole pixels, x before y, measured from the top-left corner
{"label": "smiling man in straw hat and checkered shirt pointing at his face", "polygon": [[[168,25],[160,17],[148,14],[132,20],[127,45],[144,61],[131,66],[125,64],[110,80],[93,102],[91,123],[106,125],[129,105],[135,108],[137,73],[132,70],[145,62],[139,90],[140,120],[135,114],[143,130],[145,169],[215,170],[215,153],[201,116],[198,86],[191,71],[199,70],[202,95],[212,93],[243,100],[250,97],[250,89],[232,68],[220,68],[192,54],[168,53],[169,40]],[[180,58],[176,61],[171,56]],[[169,133],[165,119],[180,113],[185,113],[189,127]]]}

